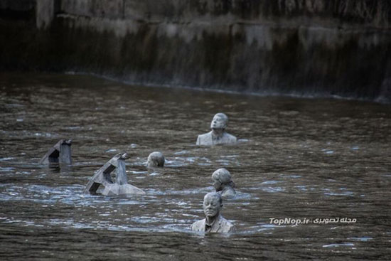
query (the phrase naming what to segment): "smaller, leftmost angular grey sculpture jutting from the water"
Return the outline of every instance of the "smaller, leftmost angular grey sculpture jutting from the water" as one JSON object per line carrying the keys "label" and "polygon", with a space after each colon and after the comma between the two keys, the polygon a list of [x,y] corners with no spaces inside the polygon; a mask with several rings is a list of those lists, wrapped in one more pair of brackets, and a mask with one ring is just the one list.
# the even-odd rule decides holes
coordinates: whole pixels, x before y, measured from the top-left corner
{"label": "smaller, leftmost angular grey sculpture jutting from the water", "polygon": [[39,161],[39,164],[72,164],[72,155],[70,150],[72,139],[60,139]]}

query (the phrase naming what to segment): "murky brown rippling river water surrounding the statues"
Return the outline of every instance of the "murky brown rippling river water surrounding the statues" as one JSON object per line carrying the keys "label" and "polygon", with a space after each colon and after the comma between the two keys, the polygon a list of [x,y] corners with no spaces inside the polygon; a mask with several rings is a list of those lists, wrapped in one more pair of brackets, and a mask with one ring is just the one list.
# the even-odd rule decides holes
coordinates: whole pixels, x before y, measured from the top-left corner
{"label": "murky brown rippling river water surrounding the statues", "polygon": [[[1,260],[390,258],[390,105],[3,73],[0,110]],[[228,132],[248,141],[195,146],[216,112],[230,117]],[[38,165],[62,138],[73,139],[73,165]],[[156,150],[166,167],[148,171],[146,157]],[[146,196],[82,194],[120,151],[130,155],[129,183]],[[237,185],[237,198],[223,208],[237,233],[193,233],[220,167]]]}

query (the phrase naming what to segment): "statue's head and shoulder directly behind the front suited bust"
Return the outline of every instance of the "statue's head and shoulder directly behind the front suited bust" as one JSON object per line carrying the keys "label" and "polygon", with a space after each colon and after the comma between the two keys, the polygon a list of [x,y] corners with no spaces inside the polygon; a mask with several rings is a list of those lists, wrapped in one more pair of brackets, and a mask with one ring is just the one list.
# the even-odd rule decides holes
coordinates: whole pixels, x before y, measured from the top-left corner
{"label": "statue's head and shoulder directly behind the front suited bust", "polygon": [[218,169],[212,174],[213,186],[216,192],[224,198],[235,198],[235,183],[232,181],[230,171],[227,169]]}

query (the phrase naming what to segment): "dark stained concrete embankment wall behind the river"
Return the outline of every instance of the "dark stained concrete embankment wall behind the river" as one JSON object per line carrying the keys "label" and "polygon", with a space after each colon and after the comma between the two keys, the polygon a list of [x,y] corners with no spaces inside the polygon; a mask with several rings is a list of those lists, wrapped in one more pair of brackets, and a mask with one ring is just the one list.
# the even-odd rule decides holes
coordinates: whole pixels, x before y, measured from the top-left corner
{"label": "dark stained concrete embankment wall behind the river", "polygon": [[1,43],[10,51],[0,67],[241,92],[390,95],[390,1],[45,1],[28,25],[35,33],[1,23],[1,33],[31,41],[24,53]]}

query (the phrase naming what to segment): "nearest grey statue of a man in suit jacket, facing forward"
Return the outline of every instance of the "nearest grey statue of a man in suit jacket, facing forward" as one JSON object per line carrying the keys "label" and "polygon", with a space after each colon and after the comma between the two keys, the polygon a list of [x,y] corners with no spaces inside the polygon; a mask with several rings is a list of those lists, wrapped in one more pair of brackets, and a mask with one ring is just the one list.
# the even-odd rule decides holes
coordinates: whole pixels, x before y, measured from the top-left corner
{"label": "nearest grey statue of a man in suit jacket, facing forward", "polygon": [[203,198],[203,211],[206,218],[191,225],[191,230],[205,233],[232,233],[236,228],[220,215],[223,199],[219,193],[211,192]]}

